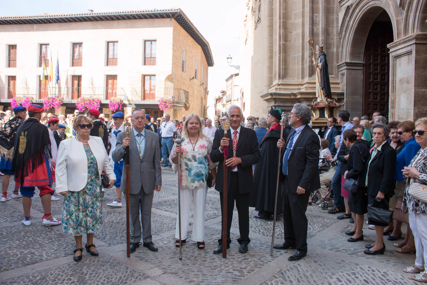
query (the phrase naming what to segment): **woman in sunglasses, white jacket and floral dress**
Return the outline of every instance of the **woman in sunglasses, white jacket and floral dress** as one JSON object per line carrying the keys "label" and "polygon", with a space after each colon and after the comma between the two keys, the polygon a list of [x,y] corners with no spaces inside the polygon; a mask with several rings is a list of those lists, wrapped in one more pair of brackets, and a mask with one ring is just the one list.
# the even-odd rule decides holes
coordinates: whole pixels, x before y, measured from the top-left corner
{"label": "woman in sunglasses, white jacket and floral dress", "polygon": [[76,136],[59,144],[56,163],[56,192],[65,197],[62,230],[76,240],[74,261],[82,260],[84,233],[87,235],[86,251],[98,256],[94,234],[102,224],[102,170],[109,179],[107,188],[111,188],[116,181],[102,138],[89,135],[91,128],[90,118],[77,116],[74,122]]}

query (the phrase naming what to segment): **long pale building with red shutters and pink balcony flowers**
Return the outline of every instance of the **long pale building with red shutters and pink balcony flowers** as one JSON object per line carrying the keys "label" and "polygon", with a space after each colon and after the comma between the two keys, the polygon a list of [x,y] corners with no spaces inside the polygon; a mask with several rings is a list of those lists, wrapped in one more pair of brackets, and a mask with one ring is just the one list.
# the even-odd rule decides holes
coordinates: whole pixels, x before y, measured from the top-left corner
{"label": "long pale building with red shutters and pink balcony flowers", "polygon": [[[59,94],[62,114],[73,112],[79,97],[97,97],[108,116],[108,99],[121,97],[158,117],[164,97],[175,103],[164,110],[172,118],[205,115],[212,53],[181,9],[0,17],[0,38],[3,109],[16,96],[41,103]],[[53,73],[58,58],[58,85],[41,81],[45,52]]]}

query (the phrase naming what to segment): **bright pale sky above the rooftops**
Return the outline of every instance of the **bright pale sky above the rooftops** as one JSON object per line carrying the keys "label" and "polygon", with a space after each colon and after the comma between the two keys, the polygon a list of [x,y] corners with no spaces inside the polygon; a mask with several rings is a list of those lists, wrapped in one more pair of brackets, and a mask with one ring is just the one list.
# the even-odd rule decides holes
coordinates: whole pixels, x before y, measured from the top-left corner
{"label": "bright pale sky above the rooftops", "polygon": [[233,57],[232,65],[240,64],[243,0],[43,0],[42,3],[35,0],[2,1],[0,16],[84,13],[88,9],[111,12],[181,8],[211,47],[214,65],[208,70],[208,106],[213,104],[213,96],[225,88],[225,79],[237,72],[228,66],[227,56]]}

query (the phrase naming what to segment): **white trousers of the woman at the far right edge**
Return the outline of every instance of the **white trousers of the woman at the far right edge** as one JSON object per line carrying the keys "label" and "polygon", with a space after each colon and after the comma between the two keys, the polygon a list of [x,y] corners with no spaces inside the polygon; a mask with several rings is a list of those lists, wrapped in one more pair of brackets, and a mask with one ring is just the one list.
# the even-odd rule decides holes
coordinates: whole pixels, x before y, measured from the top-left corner
{"label": "white trousers of the woman at the far right edge", "polygon": [[415,265],[419,269],[424,269],[427,259],[427,214],[409,214],[409,226],[417,250]]}

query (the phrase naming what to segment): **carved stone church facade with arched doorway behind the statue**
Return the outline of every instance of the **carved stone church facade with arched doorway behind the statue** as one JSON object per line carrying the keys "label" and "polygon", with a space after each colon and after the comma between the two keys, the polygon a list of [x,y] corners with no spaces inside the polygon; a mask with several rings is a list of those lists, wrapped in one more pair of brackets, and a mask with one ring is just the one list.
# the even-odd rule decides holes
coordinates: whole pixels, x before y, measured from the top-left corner
{"label": "carved stone church facade with arched doorway behind the statue", "polygon": [[[316,97],[308,40],[327,54],[332,95],[351,116],[426,115],[426,0],[244,0],[245,115]],[[261,107],[261,108],[260,108]]]}

